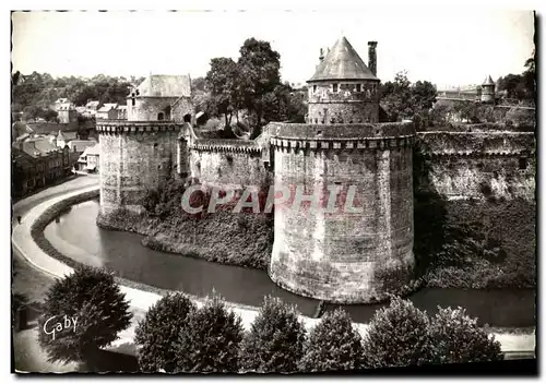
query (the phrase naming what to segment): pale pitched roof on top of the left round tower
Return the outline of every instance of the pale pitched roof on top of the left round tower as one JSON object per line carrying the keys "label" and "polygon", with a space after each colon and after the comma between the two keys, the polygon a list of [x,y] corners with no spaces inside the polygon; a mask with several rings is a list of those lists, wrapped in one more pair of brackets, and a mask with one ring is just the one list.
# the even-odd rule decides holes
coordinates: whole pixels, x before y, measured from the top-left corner
{"label": "pale pitched roof on top of the left round tower", "polygon": [[144,80],[136,89],[144,97],[191,96],[189,75],[153,74]]}

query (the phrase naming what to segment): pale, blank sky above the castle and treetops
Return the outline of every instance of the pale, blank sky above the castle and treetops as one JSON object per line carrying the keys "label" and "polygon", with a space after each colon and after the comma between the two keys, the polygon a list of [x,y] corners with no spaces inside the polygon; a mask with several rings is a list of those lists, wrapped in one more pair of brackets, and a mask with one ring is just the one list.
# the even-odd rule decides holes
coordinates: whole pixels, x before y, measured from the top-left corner
{"label": "pale, blank sky above the castle and treetops", "polygon": [[320,47],[345,35],[365,62],[378,41],[378,76],[407,70],[439,87],[521,73],[532,55],[533,14],[467,7],[335,12],[13,13],[14,71],[58,75],[205,75],[215,57],[237,60],[248,37],[281,53],[283,81],[305,82]]}

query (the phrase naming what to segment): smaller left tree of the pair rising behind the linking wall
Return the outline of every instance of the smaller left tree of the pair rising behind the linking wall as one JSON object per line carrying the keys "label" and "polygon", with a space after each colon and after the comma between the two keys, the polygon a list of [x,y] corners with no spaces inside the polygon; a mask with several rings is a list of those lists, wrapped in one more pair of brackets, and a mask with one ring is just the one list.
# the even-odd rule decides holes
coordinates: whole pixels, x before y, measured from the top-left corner
{"label": "smaller left tree of the pair rising behind the linking wall", "polygon": [[206,73],[206,86],[217,113],[225,117],[225,129],[229,130],[233,112],[238,106],[239,71],[237,63],[229,58],[211,60],[211,70]]}

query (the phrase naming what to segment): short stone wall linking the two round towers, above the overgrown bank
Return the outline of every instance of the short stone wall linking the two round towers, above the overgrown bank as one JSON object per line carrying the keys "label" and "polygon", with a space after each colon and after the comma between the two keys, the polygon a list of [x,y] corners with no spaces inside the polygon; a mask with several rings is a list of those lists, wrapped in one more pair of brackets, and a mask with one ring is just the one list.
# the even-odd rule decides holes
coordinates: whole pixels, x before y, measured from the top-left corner
{"label": "short stone wall linking the two round towers, above the overgrown bank", "polygon": [[197,140],[190,163],[191,176],[207,187],[242,190],[269,184],[269,170],[254,142]]}

